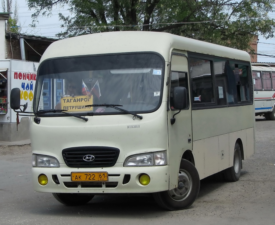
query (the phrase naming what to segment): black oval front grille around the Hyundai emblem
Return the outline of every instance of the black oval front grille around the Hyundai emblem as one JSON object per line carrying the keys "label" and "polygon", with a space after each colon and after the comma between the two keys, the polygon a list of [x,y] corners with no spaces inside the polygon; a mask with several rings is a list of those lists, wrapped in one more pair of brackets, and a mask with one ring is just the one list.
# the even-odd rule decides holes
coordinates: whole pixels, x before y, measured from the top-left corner
{"label": "black oval front grille around the Hyundai emblem", "polygon": [[[116,164],[120,150],[113,147],[85,146],[62,150],[64,162],[68,167],[91,168],[112,167]],[[85,161],[84,156],[94,156],[94,160]]]}

